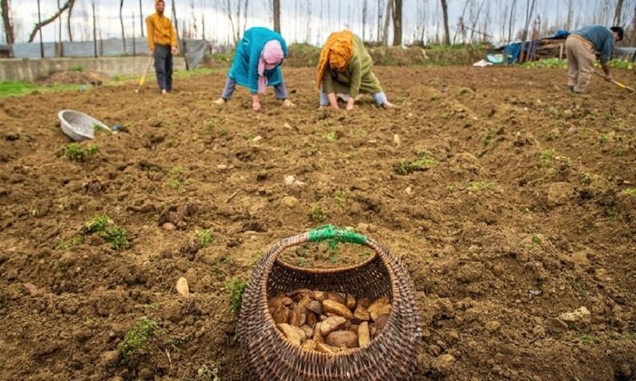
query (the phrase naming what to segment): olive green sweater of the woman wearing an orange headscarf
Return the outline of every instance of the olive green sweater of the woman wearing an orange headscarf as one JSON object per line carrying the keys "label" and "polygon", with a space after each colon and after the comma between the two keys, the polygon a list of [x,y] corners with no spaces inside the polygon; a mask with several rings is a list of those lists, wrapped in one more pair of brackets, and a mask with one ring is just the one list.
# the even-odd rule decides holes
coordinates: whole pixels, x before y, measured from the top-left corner
{"label": "olive green sweater of the woman wearing an orange headscarf", "polygon": [[355,98],[359,93],[382,93],[380,81],[372,72],[373,60],[364,48],[363,41],[353,34],[353,54],[347,69],[337,72],[328,69],[323,76],[324,93],[346,93]]}

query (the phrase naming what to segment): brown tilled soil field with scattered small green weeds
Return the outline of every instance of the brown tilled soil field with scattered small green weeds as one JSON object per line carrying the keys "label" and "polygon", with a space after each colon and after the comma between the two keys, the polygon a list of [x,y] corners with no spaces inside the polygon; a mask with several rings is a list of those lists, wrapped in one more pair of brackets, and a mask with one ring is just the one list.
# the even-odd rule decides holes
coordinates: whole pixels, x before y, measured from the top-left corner
{"label": "brown tilled soil field with scattered small green weeds", "polygon": [[[421,379],[636,377],[636,95],[593,78],[573,96],[558,69],[379,67],[399,109],[343,112],[318,109],[313,69],[284,74],[293,109],[269,90],[253,112],[244,88],[214,107],[225,72],[0,100],[0,379],[243,379],[228,282],[323,223],[409,269]],[[69,160],[62,109],[126,132]]]}

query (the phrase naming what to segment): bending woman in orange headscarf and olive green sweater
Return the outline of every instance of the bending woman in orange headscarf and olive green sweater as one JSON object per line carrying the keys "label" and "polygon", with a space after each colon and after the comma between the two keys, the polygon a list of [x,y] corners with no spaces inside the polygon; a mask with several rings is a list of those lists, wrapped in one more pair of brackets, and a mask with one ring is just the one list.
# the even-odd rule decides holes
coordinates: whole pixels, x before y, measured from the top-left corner
{"label": "bending woman in orange headscarf and olive green sweater", "polygon": [[360,37],[347,30],[330,34],[318,62],[316,83],[320,87],[320,105],[337,109],[337,93],[343,94],[346,109],[353,110],[358,94],[370,93],[378,106],[393,107],[372,69],[373,60]]}

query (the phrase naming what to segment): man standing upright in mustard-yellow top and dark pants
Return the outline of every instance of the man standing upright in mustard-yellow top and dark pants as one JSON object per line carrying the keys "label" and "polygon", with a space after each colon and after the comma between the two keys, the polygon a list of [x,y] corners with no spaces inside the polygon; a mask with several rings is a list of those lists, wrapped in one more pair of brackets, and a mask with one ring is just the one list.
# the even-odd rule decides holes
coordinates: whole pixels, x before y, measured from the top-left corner
{"label": "man standing upright in mustard-yellow top and dark pants", "polygon": [[[174,1],[174,0],[173,0]],[[164,16],[164,0],[155,0],[156,12],[145,19],[148,29],[148,54],[154,56],[154,71],[161,93],[173,90],[173,54],[176,54],[176,32]]]}

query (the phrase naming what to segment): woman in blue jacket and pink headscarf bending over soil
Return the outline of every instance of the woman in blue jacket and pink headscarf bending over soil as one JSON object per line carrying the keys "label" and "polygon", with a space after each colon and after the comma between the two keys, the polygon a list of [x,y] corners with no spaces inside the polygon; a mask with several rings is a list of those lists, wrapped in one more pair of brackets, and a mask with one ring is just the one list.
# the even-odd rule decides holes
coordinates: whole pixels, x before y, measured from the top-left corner
{"label": "woman in blue jacket and pink headscarf bending over soil", "polygon": [[252,93],[252,108],[261,110],[259,93],[265,93],[267,86],[273,86],[276,99],[283,106],[293,106],[287,99],[287,89],[283,83],[281,64],[287,55],[287,44],[281,34],[267,28],[250,28],[236,47],[234,63],[227,74],[227,81],[221,98],[214,104],[224,104],[232,98],[236,83],[247,87]]}

